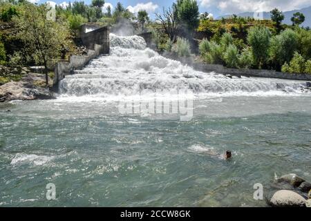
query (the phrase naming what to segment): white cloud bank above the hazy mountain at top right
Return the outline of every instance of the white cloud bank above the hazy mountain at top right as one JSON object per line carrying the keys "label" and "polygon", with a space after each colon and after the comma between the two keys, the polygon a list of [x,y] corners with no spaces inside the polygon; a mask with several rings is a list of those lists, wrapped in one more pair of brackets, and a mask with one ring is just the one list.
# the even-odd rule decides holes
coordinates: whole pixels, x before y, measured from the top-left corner
{"label": "white cloud bank above the hazy mountain at top right", "polygon": [[301,9],[310,6],[310,0],[200,0],[203,8],[216,7],[222,13],[270,11],[279,8],[282,11]]}

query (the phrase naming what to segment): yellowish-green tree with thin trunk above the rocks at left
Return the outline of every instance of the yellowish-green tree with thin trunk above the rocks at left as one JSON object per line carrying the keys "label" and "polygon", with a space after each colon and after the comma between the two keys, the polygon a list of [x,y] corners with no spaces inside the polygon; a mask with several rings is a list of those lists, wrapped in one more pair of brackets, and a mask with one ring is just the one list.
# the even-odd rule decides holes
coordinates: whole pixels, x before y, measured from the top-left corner
{"label": "yellowish-green tree with thin trunk above the rocks at left", "polygon": [[48,60],[56,59],[60,55],[70,36],[68,28],[62,23],[46,19],[48,10],[45,5],[35,6],[26,3],[25,12],[15,17],[19,28],[18,36],[25,44],[29,57],[38,65],[44,66],[46,86],[48,86]]}

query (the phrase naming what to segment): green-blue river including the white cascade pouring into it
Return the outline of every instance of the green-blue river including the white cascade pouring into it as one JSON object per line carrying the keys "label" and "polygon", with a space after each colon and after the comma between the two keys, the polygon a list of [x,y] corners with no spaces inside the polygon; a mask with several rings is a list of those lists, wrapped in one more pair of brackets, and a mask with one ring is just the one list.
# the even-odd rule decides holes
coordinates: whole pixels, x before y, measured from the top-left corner
{"label": "green-blue river including the white cascade pouring into it", "polygon": [[311,180],[305,86],[201,73],[111,35],[57,99],[0,104],[0,206],[267,206],[254,184]]}

